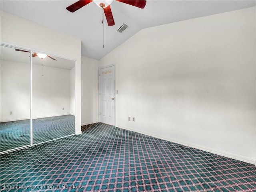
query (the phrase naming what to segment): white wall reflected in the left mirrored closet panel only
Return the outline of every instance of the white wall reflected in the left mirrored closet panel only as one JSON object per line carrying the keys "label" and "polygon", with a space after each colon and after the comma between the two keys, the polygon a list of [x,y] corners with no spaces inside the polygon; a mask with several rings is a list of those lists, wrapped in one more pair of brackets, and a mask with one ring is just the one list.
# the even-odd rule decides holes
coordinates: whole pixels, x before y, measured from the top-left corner
{"label": "white wall reflected in the left mirrored closet panel only", "polygon": [[0,121],[30,118],[30,64],[5,60],[0,60],[0,62]]}

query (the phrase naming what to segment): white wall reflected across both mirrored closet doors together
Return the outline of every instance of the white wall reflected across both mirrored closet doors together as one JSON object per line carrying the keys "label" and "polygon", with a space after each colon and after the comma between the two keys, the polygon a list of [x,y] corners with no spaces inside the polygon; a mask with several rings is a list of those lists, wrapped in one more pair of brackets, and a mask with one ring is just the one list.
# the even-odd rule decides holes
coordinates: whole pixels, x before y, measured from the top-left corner
{"label": "white wall reflected across both mirrored closet doors together", "polygon": [[[43,66],[41,73],[33,65],[32,117],[71,114],[70,70]],[[1,60],[1,103],[1,122],[30,118],[30,64]]]}

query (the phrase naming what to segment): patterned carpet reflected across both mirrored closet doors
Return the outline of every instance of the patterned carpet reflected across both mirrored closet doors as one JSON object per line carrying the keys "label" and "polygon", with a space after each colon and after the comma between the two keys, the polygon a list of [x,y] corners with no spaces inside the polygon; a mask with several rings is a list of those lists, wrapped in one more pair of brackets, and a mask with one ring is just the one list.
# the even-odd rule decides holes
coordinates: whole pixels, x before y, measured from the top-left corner
{"label": "patterned carpet reflected across both mirrored closet doors", "polygon": [[[30,145],[30,120],[2,122],[0,151]],[[62,115],[33,119],[33,143],[75,134],[75,116]]]}

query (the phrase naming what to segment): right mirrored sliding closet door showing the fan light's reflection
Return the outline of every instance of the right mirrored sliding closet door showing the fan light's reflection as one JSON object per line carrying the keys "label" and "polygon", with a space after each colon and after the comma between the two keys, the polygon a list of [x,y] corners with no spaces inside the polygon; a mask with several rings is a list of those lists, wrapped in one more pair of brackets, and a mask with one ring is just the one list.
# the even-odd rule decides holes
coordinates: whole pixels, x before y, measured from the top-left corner
{"label": "right mirrored sliding closet door showing the fan light's reflection", "polygon": [[33,144],[75,134],[75,62],[32,54]]}

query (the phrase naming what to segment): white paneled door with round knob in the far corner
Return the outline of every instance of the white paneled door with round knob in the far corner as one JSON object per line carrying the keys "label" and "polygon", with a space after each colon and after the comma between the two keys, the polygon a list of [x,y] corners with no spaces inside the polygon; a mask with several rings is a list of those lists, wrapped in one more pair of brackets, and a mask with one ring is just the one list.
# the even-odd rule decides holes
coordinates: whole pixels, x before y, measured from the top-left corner
{"label": "white paneled door with round knob in the far corner", "polygon": [[100,122],[115,125],[115,66],[100,69]]}

